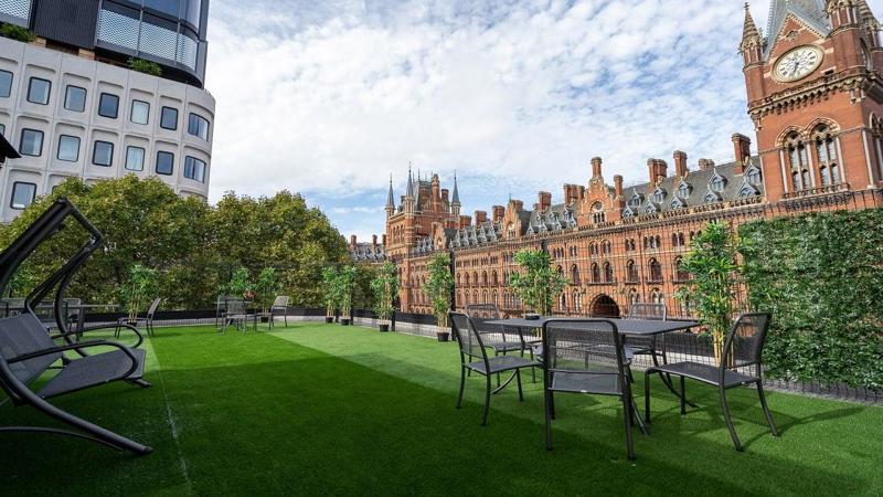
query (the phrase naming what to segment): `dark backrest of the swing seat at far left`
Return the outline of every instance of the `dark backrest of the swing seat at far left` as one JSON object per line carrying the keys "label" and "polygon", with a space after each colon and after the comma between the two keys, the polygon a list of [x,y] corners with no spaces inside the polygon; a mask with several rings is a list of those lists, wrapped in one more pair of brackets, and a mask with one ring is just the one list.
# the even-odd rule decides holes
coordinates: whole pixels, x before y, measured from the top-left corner
{"label": "dark backrest of the swing seat at far left", "polygon": [[[3,361],[53,347],[55,343],[49,330],[33,314],[23,313],[0,319],[0,358]],[[61,358],[62,353],[57,352],[7,366],[19,381],[26,384]],[[4,383],[7,381],[3,379]]]}

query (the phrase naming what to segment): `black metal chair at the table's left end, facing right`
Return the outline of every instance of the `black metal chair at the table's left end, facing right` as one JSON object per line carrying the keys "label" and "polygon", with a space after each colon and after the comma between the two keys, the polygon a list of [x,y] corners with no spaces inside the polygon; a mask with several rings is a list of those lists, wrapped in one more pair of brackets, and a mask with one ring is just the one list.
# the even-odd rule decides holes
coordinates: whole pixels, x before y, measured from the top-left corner
{"label": "black metal chair at the table's left end, facing right", "polygon": [[[470,371],[486,377],[485,387],[485,416],[481,425],[488,424],[490,412],[491,393],[500,392],[514,379],[518,383],[519,400],[524,400],[521,390],[521,370],[532,368],[536,362],[528,360],[521,356],[488,356],[488,347],[482,341],[481,334],[478,332],[472,319],[462,313],[449,313],[451,329],[460,348],[460,391],[457,394],[457,409],[462,405],[462,392],[466,388],[466,376]],[[490,377],[497,373],[512,371],[512,376],[496,390],[491,391]]]}

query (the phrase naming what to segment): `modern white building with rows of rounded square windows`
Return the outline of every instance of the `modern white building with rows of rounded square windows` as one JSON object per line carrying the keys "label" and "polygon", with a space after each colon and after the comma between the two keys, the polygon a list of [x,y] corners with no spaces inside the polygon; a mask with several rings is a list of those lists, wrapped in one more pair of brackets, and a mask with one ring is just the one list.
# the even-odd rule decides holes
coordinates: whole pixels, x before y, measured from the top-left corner
{"label": "modern white building with rows of rounded square windows", "polygon": [[[38,25],[40,3],[18,1],[28,3],[31,13],[30,21],[17,23]],[[143,46],[147,51],[139,44],[157,32],[145,18],[161,19],[162,12],[143,6],[141,19],[126,18],[135,22],[127,24],[119,20],[123,14],[108,10],[116,9],[115,2],[93,1],[98,15],[86,49],[42,36],[33,43],[0,38],[0,133],[22,155],[0,170],[1,221],[14,219],[36,195],[71,176],[87,182],[156,176],[179,194],[208,198],[215,103],[202,88],[204,39],[192,55],[175,61],[185,44],[198,42],[183,34],[159,38],[173,44],[166,60],[151,53],[150,46],[163,53],[156,50],[156,40]],[[204,31],[208,0],[190,2],[203,9],[196,19]],[[170,3],[182,13],[189,9],[188,0],[160,2]],[[0,21],[10,22],[3,6],[0,1]],[[168,17],[163,22],[171,22]],[[107,19],[114,24],[107,25]],[[193,28],[181,19],[174,29]],[[138,40],[134,49],[115,45],[131,30]],[[129,70],[129,56],[160,63],[162,77]]]}

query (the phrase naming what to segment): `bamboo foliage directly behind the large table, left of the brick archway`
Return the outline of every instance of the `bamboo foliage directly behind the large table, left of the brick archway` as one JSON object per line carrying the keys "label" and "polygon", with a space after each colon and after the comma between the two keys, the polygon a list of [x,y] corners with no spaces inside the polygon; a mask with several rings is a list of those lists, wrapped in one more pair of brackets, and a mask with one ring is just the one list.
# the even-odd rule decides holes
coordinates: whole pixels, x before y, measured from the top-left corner
{"label": "bamboo foliage directly behind the large table, left of the brick archway", "polygon": [[509,286],[530,310],[551,315],[555,297],[567,286],[567,279],[552,271],[547,252],[525,248],[515,252],[514,260],[522,272],[512,274]]}

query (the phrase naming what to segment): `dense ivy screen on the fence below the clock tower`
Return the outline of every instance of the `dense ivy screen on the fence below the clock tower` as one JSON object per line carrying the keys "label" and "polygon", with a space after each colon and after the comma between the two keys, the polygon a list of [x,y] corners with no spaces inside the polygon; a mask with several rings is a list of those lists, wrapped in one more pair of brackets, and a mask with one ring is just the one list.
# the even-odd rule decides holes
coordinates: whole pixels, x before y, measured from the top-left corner
{"label": "dense ivy screen on the fence below the clock tower", "polygon": [[767,373],[883,389],[883,210],[740,230],[748,299],[773,313]]}

